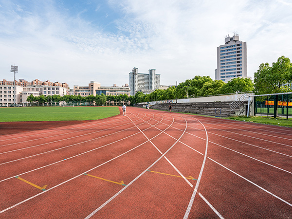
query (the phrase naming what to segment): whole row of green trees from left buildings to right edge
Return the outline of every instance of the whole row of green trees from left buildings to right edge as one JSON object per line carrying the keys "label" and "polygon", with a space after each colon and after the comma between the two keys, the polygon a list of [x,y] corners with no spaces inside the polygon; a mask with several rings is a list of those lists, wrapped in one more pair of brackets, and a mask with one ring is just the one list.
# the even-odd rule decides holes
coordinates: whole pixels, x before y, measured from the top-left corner
{"label": "whole row of green trees from left buildings to right edge", "polygon": [[117,96],[90,95],[82,97],[80,95],[53,95],[53,96],[33,96],[30,95],[27,101],[39,104],[56,104],[59,102],[66,103],[89,103],[89,105],[102,106],[108,101],[115,105],[120,105],[122,102],[130,102],[131,105],[141,102],[151,102],[158,100],[171,100],[192,98],[198,96],[219,95],[228,93],[239,93],[253,91],[256,94],[279,93],[292,91],[292,63],[289,58],[281,56],[277,62],[273,62],[272,66],[269,63],[262,63],[259,69],[254,74],[254,82],[249,78],[233,78],[224,83],[221,80],[213,80],[210,76],[194,76],[192,79],[187,79],[178,86],[169,87],[166,90],[155,90],[152,93],[144,94],[137,92],[134,96],[120,94]]}

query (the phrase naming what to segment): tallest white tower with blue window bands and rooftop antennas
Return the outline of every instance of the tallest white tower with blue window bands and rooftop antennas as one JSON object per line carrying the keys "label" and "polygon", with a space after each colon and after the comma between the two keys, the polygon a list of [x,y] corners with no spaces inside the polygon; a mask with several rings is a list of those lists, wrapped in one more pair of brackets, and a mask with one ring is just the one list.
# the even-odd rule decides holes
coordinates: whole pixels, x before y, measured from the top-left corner
{"label": "tallest white tower with blue window bands and rooftop antennas", "polygon": [[247,77],[246,60],[246,42],[239,41],[238,34],[225,37],[225,44],[217,47],[215,79],[228,82],[235,77]]}

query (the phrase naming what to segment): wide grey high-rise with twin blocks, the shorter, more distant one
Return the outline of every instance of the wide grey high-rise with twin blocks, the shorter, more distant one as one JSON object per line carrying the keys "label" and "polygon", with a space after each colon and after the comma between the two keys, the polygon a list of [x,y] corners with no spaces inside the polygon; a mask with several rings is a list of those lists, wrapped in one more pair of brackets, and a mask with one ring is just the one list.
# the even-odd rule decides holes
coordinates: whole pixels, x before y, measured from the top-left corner
{"label": "wide grey high-rise with twin blocks, the shorter, more distant one", "polygon": [[148,73],[138,73],[138,68],[133,68],[129,73],[130,95],[135,95],[137,91],[150,93],[160,86],[160,74],[155,73],[155,69],[149,69]]}

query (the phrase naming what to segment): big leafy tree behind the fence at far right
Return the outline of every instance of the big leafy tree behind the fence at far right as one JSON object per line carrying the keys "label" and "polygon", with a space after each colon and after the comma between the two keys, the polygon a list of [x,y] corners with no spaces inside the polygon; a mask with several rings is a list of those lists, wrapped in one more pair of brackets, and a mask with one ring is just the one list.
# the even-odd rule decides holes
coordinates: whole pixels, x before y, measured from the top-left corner
{"label": "big leafy tree behind the fence at far right", "polygon": [[[277,62],[262,63],[255,73],[256,94],[280,93],[287,91],[285,85],[292,81],[292,63],[289,58],[281,56]],[[278,95],[275,95],[275,113],[278,116]]]}

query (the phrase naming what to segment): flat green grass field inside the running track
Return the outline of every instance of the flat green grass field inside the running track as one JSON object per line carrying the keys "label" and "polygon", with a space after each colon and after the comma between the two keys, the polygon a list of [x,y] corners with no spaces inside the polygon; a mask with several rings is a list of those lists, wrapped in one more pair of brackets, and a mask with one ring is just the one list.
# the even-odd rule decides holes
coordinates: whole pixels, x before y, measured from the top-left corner
{"label": "flat green grass field inside the running track", "polygon": [[3,107],[0,122],[96,120],[119,113],[118,107]]}

